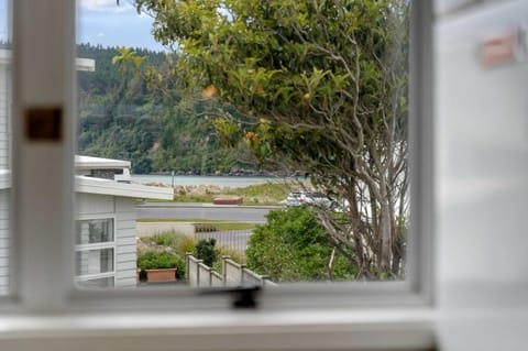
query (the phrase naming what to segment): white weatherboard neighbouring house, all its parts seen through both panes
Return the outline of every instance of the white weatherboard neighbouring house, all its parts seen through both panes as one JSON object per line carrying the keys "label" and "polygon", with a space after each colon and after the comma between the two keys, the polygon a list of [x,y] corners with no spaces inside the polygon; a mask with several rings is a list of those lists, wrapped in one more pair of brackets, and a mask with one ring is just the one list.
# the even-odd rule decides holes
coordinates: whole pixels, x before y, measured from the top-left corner
{"label": "white weatherboard neighbouring house, all its parts seen through both panes", "polygon": [[[8,290],[11,189],[11,53],[0,50],[0,294]],[[77,58],[78,70],[95,70]],[[130,184],[128,161],[76,156],[76,281],[84,287],[135,286],[138,199],[172,199],[168,188]],[[45,172],[45,169],[43,169]]]}

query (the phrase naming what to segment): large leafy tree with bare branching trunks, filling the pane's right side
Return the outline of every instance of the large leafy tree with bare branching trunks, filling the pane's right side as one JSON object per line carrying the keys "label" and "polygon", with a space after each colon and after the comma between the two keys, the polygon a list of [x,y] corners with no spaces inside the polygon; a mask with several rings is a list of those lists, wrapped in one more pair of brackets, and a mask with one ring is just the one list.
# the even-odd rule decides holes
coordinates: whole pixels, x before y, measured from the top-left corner
{"label": "large leafy tree with bare branching trunks, filling the pane's right side", "polygon": [[359,276],[403,277],[408,1],[135,3],[178,53],[173,75],[218,102],[224,141],[302,169],[343,204],[346,216],[319,221]]}

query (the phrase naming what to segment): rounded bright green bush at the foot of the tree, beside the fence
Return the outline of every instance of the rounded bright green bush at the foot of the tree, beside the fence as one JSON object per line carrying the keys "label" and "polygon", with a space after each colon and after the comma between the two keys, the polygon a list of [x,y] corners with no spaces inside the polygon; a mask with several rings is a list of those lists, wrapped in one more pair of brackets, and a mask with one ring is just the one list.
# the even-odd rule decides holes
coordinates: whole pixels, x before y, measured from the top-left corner
{"label": "rounded bright green bush at the foot of the tree, beside the fence", "polygon": [[267,215],[267,223],[257,226],[250,238],[248,266],[275,282],[354,276],[356,270],[341,255],[328,271],[332,249],[311,208],[274,210]]}

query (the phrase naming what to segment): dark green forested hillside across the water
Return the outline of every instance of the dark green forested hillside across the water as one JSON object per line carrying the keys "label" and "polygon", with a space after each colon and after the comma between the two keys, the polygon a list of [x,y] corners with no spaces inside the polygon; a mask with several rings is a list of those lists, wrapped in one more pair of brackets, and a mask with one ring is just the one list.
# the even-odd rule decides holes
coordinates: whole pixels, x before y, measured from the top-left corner
{"label": "dark green forested hillside across the water", "polygon": [[[134,48],[145,66],[163,66],[165,53]],[[199,99],[182,87],[148,88],[144,79],[112,64],[118,48],[78,45],[78,57],[94,58],[95,72],[78,73],[78,153],[132,161],[136,174],[191,174],[252,169],[239,153],[221,147]],[[167,94],[169,96],[167,96]]]}

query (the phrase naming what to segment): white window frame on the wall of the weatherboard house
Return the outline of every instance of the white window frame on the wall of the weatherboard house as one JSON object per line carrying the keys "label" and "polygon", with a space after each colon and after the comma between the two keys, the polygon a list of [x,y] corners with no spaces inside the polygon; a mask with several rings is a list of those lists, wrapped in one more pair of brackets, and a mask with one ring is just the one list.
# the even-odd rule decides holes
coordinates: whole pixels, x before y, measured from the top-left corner
{"label": "white window frame on the wall of the weatherboard house", "polygon": [[[114,213],[98,213],[98,215],[82,215],[79,216],[76,219],[76,222],[81,222],[81,221],[91,221],[91,220],[110,220],[112,222],[112,241],[105,241],[105,242],[98,242],[98,243],[91,243],[91,244],[76,244],[75,245],[75,252],[84,252],[84,251],[90,251],[90,250],[103,250],[103,249],[112,249],[113,255],[112,255],[112,267],[113,270],[110,272],[105,272],[105,273],[98,273],[98,274],[84,274],[84,275],[76,275],[75,276],[75,282],[86,282],[86,281],[91,281],[91,279],[98,279],[98,278],[112,278],[113,279],[113,286],[116,286],[116,270],[117,270],[117,249],[118,249],[118,238],[117,238],[117,229],[116,229],[116,215]],[[77,235],[77,231],[75,233]],[[77,259],[76,259],[77,260]],[[77,264],[77,262],[75,262]]]}

